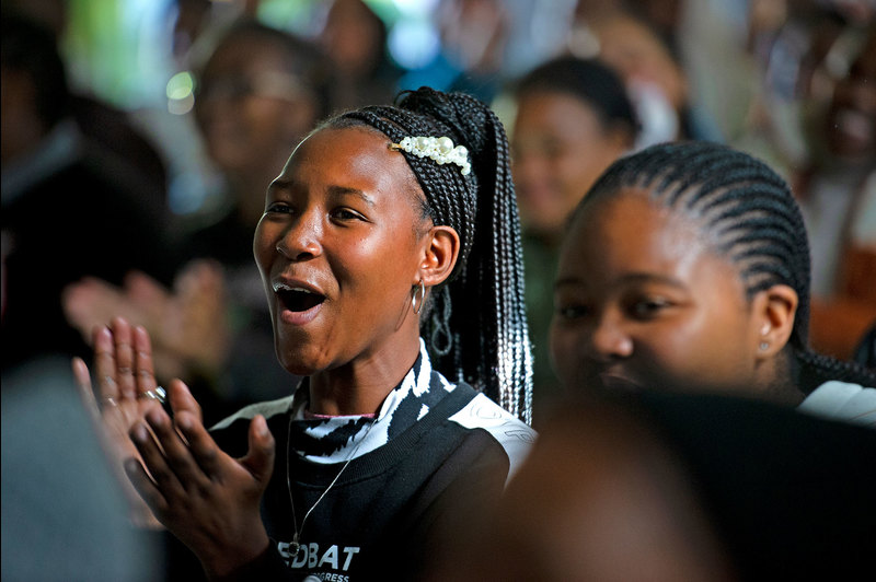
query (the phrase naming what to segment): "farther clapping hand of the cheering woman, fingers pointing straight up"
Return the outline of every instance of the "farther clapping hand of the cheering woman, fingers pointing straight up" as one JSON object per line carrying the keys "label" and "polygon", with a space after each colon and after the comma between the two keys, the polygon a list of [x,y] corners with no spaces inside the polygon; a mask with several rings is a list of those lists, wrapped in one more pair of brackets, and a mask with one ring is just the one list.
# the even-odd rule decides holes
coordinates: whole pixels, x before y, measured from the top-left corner
{"label": "farther clapping hand of the cheering woman, fingers pointing straight up", "polygon": [[[84,361],[73,359],[73,375],[85,407],[92,414],[110,455],[113,469],[130,502],[131,519],[137,525],[161,527],[124,473],[128,458],[141,461],[129,431],[143,422],[147,412],[161,407],[152,366],[152,348],[146,329],[116,317],[110,326],[93,331],[94,380]],[[96,394],[95,394],[96,393]],[[192,410],[198,417],[200,410]]]}

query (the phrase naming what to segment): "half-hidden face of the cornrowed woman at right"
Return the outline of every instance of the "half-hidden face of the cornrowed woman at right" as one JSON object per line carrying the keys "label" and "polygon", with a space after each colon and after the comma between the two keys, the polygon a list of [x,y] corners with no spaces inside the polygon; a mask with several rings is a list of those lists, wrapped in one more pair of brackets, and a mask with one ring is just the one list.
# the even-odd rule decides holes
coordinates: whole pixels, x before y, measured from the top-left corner
{"label": "half-hidden face of the cornrowed woman at right", "polygon": [[570,389],[757,391],[735,267],[643,190],[586,206],[564,242],[551,350]]}

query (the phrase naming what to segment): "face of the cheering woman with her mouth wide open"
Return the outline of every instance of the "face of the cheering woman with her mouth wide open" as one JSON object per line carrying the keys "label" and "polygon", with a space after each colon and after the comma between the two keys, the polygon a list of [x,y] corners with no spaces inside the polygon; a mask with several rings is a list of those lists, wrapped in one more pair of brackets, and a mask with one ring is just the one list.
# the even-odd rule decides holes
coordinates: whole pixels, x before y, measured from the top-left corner
{"label": "face of the cheering woman with her mouth wide open", "polygon": [[253,245],[288,371],[410,357],[424,238],[417,194],[404,158],[373,130],[323,129],[289,158]]}

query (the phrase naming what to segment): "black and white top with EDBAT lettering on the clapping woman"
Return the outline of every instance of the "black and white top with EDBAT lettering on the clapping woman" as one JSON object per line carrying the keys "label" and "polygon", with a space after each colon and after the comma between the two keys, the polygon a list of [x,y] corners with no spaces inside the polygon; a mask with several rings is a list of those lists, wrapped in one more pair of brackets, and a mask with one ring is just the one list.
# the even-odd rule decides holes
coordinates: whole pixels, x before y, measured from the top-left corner
{"label": "black and white top with EDBAT lettering on the clapping woman", "polygon": [[262,414],[277,441],[263,499],[272,549],[247,575],[415,578],[437,544],[496,500],[535,440],[489,398],[433,370],[422,340],[416,363],[374,417],[314,418],[307,388],[304,379],[293,396],[249,406],[211,429],[224,451],[243,455],[250,419]]}

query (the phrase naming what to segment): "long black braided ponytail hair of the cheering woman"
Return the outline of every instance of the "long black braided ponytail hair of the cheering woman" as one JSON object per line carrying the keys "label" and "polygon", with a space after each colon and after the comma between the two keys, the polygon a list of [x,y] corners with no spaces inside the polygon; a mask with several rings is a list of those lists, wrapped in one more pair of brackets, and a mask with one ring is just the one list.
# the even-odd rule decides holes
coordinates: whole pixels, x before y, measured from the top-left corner
{"label": "long black braided ponytail hair of the cheering woman", "polygon": [[318,130],[350,126],[368,126],[394,143],[446,136],[468,148],[468,175],[456,164],[400,151],[425,195],[424,218],[451,226],[461,243],[453,271],[424,310],[424,339],[436,369],[531,422],[520,221],[502,123],[468,94],[424,86],[400,93],[394,105],[341,113]]}

